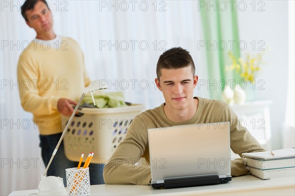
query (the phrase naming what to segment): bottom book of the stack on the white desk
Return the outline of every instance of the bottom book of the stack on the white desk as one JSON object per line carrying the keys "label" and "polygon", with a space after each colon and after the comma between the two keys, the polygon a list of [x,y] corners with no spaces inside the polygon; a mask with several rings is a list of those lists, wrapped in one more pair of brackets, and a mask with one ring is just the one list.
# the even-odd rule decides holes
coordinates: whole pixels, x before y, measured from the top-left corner
{"label": "bottom book of the stack on the white desk", "polygon": [[295,168],[267,169],[267,170],[249,168],[249,170],[252,175],[263,180],[267,180],[271,178],[295,176]]}

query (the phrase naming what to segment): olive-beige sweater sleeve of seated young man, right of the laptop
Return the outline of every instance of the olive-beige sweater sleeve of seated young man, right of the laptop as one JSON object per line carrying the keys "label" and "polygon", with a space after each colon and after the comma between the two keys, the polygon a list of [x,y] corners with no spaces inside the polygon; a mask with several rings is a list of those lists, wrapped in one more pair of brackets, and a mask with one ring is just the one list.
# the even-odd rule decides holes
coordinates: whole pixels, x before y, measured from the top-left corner
{"label": "olive-beige sweater sleeve of seated young man, right of the laptop", "polygon": [[[228,105],[225,105],[223,112],[221,112],[221,119],[230,122],[231,149],[234,153],[241,157],[242,153],[265,151],[247,128],[241,125],[236,113]],[[244,158],[232,160],[232,175],[239,176],[249,173],[245,166],[246,160]]]}

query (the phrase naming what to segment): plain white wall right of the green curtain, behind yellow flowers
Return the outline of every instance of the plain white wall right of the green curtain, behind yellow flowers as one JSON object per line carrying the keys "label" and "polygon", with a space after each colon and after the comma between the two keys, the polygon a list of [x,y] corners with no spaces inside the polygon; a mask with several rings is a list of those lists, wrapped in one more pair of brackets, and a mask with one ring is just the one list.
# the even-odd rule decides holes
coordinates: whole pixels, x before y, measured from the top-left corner
{"label": "plain white wall right of the green curtain, behind yellow flowers", "polygon": [[[262,48],[271,47],[271,50],[263,56],[266,63],[257,78],[265,81],[265,89],[256,92],[258,100],[273,101],[270,106],[272,148],[278,149],[282,148],[281,125],[285,119],[288,82],[288,1],[255,1],[255,11],[253,11],[253,1],[244,2],[247,4],[247,9],[241,11],[243,7],[240,4],[237,13],[239,39],[247,43],[247,48],[241,51],[241,55],[261,52],[258,51],[258,47],[262,46],[261,43],[258,44],[260,40],[265,43]],[[259,8],[264,11],[258,11]],[[253,40],[256,43],[254,51],[251,44]]]}

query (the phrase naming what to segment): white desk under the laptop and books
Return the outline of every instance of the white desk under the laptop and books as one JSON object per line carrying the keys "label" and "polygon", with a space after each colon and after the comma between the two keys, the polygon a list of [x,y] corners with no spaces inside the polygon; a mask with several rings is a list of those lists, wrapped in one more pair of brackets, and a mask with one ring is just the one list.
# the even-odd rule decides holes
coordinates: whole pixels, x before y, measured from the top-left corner
{"label": "white desk under the laptop and books", "polygon": [[[14,191],[9,196],[35,195],[37,190]],[[295,177],[273,178],[260,180],[251,175],[232,178],[226,184],[187,187],[177,189],[153,189],[151,186],[140,185],[93,185],[92,196],[117,196],[117,195],[160,195],[160,196],[197,196],[197,195],[295,195]]]}

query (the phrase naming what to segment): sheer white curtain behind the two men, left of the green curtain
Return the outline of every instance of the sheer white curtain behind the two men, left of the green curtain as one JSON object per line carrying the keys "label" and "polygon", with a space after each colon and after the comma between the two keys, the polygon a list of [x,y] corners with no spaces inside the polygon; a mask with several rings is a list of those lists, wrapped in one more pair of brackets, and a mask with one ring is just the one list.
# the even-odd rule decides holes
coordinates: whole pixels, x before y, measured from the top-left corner
{"label": "sheer white curtain behind the two men, left of the green curtain", "polygon": [[[3,3],[5,2],[5,3]],[[20,105],[18,58],[35,38],[20,13],[23,1],[1,1],[1,193],[37,189],[44,172],[38,130]],[[203,40],[197,1],[49,1],[54,29],[74,38],[85,54],[91,80],[106,80],[125,99],[147,109],[164,99],[155,88],[157,59],[164,50],[181,46],[191,52],[199,79],[207,68],[198,40]],[[57,70],[58,71],[58,70]],[[71,74],[71,70],[68,70]],[[195,90],[198,96],[208,92]]]}

